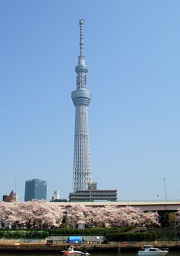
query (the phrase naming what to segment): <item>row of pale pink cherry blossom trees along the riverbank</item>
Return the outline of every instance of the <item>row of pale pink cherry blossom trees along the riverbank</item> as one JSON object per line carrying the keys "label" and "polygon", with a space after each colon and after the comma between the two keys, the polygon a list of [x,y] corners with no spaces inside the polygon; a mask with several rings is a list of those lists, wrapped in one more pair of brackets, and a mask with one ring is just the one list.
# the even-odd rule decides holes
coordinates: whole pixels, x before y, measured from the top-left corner
{"label": "row of pale pink cherry blossom trees along the riverbank", "polygon": [[16,227],[59,228],[76,227],[78,224],[95,226],[159,226],[158,213],[144,213],[140,208],[131,206],[91,207],[81,204],[61,206],[45,200],[31,202],[0,203],[0,224],[14,224]]}

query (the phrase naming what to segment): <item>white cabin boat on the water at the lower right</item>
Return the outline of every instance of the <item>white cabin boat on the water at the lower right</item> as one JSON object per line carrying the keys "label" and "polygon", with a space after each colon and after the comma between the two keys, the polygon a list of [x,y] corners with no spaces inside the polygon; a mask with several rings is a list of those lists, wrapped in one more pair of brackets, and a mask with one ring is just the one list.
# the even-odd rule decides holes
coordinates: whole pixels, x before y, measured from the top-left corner
{"label": "white cabin boat on the water at the lower right", "polygon": [[161,255],[164,256],[168,253],[168,249],[159,249],[152,247],[151,245],[144,245],[143,247],[140,248],[138,251],[138,256],[156,256],[156,255]]}

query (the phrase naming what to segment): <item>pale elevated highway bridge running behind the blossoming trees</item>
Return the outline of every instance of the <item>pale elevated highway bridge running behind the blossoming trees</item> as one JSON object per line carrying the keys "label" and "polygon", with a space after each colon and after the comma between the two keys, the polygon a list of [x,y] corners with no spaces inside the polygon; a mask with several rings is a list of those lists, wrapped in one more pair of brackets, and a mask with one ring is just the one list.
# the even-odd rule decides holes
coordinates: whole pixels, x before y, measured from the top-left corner
{"label": "pale elevated highway bridge running behind the blossoming trees", "polygon": [[143,211],[178,211],[180,209],[180,200],[138,200],[138,201],[116,201],[116,202],[66,202],[60,203],[62,206],[72,206],[73,204],[81,204],[84,206],[132,206],[140,208]]}

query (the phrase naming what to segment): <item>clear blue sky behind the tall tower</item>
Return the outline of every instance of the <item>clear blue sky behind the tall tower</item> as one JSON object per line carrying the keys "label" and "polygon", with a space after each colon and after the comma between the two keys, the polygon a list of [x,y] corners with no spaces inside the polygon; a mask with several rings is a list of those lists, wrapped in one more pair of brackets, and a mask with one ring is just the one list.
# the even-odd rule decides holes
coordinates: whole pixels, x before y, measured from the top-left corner
{"label": "clear blue sky behind the tall tower", "polygon": [[[118,200],[179,198],[180,1],[0,0],[0,198],[25,180],[68,198],[79,54],[94,182]],[[2,199],[1,199],[2,200]]]}

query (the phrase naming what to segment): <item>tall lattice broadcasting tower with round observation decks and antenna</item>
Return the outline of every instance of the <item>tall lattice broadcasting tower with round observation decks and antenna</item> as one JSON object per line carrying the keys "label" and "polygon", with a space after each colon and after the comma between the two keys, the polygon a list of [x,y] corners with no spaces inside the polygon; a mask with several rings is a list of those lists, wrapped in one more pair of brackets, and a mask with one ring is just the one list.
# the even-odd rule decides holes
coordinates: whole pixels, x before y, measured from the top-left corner
{"label": "tall lattice broadcasting tower with round observation decks and antenna", "polygon": [[91,156],[89,148],[88,106],[91,92],[86,89],[87,67],[85,64],[84,50],[84,20],[80,19],[80,56],[76,66],[76,87],[71,93],[73,104],[76,107],[74,153],[73,153],[73,191],[87,190],[92,182]]}

